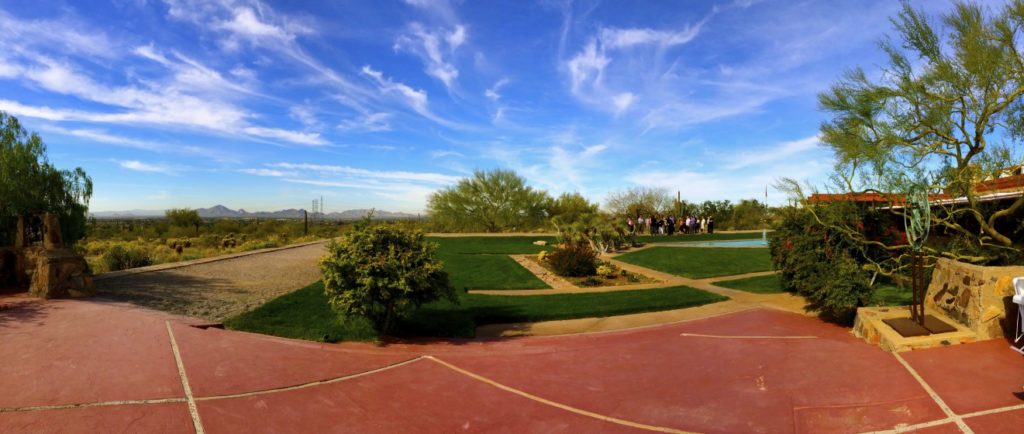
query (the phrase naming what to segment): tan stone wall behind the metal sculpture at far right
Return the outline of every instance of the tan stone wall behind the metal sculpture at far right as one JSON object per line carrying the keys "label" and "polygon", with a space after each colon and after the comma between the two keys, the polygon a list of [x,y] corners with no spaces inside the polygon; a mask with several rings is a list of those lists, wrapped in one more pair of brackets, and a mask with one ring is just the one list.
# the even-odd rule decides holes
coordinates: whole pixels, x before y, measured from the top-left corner
{"label": "tan stone wall behind the metal sculpture at far right", "polygon": [[1012,297],[1017,276],[1024,276],[1024,265],[983,267],[939,259],[925,307],[971,329],[979,340],[1000,338],[1015,327],[1017,305]]}

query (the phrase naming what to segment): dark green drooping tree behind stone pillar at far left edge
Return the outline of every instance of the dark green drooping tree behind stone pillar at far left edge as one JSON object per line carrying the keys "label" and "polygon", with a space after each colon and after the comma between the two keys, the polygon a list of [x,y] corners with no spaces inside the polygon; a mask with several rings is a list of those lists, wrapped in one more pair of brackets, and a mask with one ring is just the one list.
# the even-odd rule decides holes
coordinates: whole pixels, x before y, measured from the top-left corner
{"label": "dark green drooping tree behind stone pillar at far left edge", "polygon": [[0,245],[13,242],[18,216],[43,213],[56,214],[63,241],[74,244],[85,236],[91,197],[82,168],[53,167],[43,139],[0,112]]}

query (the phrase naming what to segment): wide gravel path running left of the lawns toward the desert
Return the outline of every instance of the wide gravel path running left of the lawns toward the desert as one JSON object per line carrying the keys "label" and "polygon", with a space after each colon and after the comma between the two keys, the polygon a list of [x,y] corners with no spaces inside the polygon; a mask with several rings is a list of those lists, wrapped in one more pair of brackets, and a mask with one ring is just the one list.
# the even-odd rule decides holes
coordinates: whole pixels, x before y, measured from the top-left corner
{"label": "wide gravel path running left of the lawns toward the desert", "polygon": [[221,321],[321,278],[324,244],[122,275],[95,283],[99,297]]}

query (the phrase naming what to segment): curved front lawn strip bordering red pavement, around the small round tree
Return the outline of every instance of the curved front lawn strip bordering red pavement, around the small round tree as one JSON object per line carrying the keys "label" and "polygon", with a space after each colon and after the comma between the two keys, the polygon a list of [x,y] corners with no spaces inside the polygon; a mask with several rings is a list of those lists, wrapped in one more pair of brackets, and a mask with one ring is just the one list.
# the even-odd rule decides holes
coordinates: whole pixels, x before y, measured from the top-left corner
{"label": "curved front lawn strip bordering red pavement, around the small round tree", "polygon": [[[524,322],[679,309],[725,300],[688,287],[611,293],[550,296],[486,296],[459,294],[458,305],[443,301],[427,304],[400,321],[396,336],[474,336],[487,323]],[[342,321],[332,312],[316,283],[224,321],[228,329],[286,338],[335,342],[373,340],[365,320]]]}

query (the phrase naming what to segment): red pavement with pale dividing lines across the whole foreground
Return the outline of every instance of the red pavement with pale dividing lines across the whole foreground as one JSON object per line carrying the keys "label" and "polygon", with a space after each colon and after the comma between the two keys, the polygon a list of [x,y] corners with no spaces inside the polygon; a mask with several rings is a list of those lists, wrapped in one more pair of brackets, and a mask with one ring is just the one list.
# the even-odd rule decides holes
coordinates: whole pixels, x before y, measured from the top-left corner
{"label": "red pavement with pale dividing lines across the whole foreground", "polygon": [[847,329],[766,309],[614,333],[387,347],[194,324],[113,303],[0,298],[0,432],[1024,426],[1024,358],[1004,342],[893,355]]}

